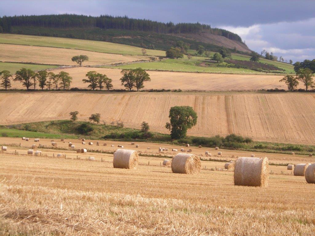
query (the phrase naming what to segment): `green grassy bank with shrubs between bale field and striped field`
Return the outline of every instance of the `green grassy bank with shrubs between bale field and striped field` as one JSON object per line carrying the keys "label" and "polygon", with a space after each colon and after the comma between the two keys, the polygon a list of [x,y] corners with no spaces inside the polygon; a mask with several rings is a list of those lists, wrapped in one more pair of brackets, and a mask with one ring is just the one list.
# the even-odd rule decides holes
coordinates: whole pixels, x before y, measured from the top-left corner
{"label": "green grassy bank with shrubs between bale field and striped field", "polygon": [[[237,135],[226,137],[192,137],[172,140],[168,134],[157,132],[141,132],[137,129],[117,127],[109,124],[88,123],[88,129],[83,129],[82,121],[41,121],[18,125],[0,126],[0,136],[2,137],[29,137],[29,138],[79,138],[115,141],[138,141],[150,143],[168,143],[175,145],[192,146],[202,145],[203,147],[220,147],[224,149],[244,150],[251,152],[283,153],[308,155],[315,152],[314,145],[298,145],[288,143],[255,142],[250,138],[243,138]],[[81,131],[80,128],[81,127]]]}

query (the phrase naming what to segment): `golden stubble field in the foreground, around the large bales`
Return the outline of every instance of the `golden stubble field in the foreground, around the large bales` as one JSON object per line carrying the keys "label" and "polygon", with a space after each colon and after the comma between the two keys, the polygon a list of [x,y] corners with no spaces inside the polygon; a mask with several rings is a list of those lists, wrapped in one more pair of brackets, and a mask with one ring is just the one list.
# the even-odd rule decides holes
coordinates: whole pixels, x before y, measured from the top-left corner
{"label": "golden stubble field in the foreground, around the large bales", "polygon": [[[1,143],[11,141],[0,138]],[[126,170],[113,168],[112,154],[93,153],[95,161],[88,161],[89,152],[41,151],[42,156],[27,156],[22,143],[8,145],[1,154],[0,234],[315,233],[314,185],[286,166],[270,166],[276,174],[269,175],[269,185],[262,189],[234,186],[233,172],[221,169],[224,162],[202,161],[200,174],[183,175],[161,165],[165,157],[140,156],[137,169]],[[66,157],[56,158],[56,153]]]}

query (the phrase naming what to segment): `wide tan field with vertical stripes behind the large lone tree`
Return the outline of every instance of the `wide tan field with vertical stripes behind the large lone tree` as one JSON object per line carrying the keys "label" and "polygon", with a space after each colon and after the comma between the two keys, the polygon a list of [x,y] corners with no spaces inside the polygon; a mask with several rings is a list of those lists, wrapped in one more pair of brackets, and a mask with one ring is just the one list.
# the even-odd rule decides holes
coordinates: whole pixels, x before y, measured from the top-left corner
{"label": "wide tan field with vertical stripes behind the large lone tree", "polygon": [[2,92],[0,124],[69,119],[77,110],[79,120],[93,113],[101,120],[123,121],[140,128],[168,133],[169,109],[192,106],[198,114],[193,136],[235,133],[258,141],[315,142],[313,93],[101,93],[101,92]]}

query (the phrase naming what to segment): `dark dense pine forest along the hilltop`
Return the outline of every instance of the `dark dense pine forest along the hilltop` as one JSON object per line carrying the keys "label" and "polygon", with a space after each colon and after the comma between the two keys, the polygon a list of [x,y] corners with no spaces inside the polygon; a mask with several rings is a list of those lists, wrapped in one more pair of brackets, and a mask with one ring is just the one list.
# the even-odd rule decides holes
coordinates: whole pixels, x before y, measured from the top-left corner
{"label": "dark dense pine forest along the hilltop", "polygon": [[116,29],[131,31],[147,31],[155,33],[200,33],[206,32],[220,35],[231,40],[242,42],[241,37],[227,30],[211,28],[200,23],[162,23],[152,20],[128,18],[127,16],[101,15],[85,16],[76,14],[3,16],[0,18],[0,32],[10,33],[12,26],[36,26],[47,28],[98,27],[100,29]]}

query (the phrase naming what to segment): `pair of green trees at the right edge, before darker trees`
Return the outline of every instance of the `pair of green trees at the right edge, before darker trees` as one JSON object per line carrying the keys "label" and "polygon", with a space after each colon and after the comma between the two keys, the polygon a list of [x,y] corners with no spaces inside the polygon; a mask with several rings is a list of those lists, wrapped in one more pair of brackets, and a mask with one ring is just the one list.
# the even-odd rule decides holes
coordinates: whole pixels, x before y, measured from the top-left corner
{"label": "pair of green trees at the right edge, before darker trees", "polygon": [[299,69],[296,72],[295,76],[284,76],[280,82],[285,82],[288,86],[289,91],[294,91],[297,89],[299,82],[302,82],[305,86],[305,90],[307,91],[309,87],[314,87],[314,75],[313,71],[306,68],[306,69]]}

